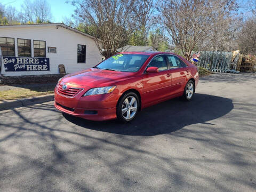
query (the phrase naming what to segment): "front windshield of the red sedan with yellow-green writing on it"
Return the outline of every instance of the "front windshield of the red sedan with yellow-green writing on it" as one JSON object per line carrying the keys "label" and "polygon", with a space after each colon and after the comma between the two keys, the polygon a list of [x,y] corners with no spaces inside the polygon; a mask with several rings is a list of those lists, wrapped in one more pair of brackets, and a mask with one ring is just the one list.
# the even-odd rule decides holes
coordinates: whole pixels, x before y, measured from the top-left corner
{"label": "front windshield of the red sedan with yellow-green writing on it", "polygon": [[149,55],[142,54],[117,54],[113,57],[102,61],[97,67],[99,69],[136,72],[143,63],[148,59]]}

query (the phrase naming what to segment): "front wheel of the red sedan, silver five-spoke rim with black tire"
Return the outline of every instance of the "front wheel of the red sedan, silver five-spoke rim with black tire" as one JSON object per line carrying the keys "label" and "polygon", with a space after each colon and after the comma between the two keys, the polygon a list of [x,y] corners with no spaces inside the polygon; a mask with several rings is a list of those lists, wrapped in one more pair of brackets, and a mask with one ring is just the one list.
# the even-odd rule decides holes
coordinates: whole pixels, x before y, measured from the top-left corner
{"label": "front wheel of the red sedan, silver five-spoke rim with black tire", "polygon": [[121,122],[131,122],[137,115],[140,108],[140,100],[136,93],[124,94],[118,102],[116,109],[117,119]]}

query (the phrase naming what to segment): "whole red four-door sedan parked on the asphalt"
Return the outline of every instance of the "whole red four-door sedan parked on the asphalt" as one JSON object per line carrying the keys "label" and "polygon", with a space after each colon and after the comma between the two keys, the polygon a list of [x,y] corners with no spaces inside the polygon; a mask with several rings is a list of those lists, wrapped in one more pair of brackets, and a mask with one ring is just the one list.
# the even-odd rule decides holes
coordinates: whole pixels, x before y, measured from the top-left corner
{"label": "whole red four-door sedan parked on the asphalt", "polygon": [[197,84],[197,67],[177,54],[123,52],[61,78],[54,105],[93,121],[130,122],[141,109],[156,103],[175,97],[191,100]]}

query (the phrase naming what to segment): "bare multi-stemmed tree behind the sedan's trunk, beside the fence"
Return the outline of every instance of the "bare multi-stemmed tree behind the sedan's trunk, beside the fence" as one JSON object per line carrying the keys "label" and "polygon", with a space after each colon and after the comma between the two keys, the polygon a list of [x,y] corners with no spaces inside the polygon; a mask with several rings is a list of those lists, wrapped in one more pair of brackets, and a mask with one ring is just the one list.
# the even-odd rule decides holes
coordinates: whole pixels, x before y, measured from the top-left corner
{"label": "bare multi-stemmed tree behind the sedan's trunk, beside the fence", "polygon": [[175,45],[189,60],[195,46],[200,44],[201,49],[204,48],[201,44],[204,39],[213,36],[214,46],[218,45],[221,41],[218,38],[223,35],[218,33],[229,21],[228,16],[236,11],[237,4],[235,0],[165,0],[160,7],[159,19]]}

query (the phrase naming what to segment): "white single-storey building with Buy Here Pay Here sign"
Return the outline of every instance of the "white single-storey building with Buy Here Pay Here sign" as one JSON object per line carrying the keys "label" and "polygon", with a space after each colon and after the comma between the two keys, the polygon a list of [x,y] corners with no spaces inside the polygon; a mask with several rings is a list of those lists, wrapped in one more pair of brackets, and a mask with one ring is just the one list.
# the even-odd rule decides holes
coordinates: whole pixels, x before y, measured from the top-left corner
{"label": "white single-storey building with Buy Here Pay Here sign", "polygon": [[1,75],[74,73],[97,65],[101,54],[92,36],[63,23],[0,26]]}

